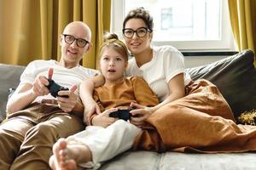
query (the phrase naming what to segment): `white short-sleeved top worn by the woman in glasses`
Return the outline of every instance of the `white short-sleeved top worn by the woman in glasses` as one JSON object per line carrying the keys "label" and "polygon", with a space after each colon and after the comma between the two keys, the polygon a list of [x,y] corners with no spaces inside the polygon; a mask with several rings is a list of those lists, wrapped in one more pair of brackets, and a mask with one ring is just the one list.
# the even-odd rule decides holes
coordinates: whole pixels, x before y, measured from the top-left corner
{"label": "white short-sleeved top worn by the woman in glasses", "polygon": [[160,101],[172,93],[168,82],[180,73],[184,75],[184,85],[189,84],[191,78],[185,72],[183,54],[172,46],[154,47],[153,58],[141,67],[137,66],[135,58],[131,58],[126,69],[128,76],[143,77]]}

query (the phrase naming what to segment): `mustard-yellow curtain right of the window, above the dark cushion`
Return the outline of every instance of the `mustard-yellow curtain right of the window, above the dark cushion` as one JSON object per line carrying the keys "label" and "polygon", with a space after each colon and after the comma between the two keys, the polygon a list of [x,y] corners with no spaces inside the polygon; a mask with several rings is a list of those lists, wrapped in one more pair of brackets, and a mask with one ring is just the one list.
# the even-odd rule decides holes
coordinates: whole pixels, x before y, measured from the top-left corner
{"label": "mustard-yellow curtain right of the window, above the dark cushion", "polygon": [[[238,49],[256,53],[256,0],[229,0],[230,22]],[[256,61],[254,62],[256,65]]]}

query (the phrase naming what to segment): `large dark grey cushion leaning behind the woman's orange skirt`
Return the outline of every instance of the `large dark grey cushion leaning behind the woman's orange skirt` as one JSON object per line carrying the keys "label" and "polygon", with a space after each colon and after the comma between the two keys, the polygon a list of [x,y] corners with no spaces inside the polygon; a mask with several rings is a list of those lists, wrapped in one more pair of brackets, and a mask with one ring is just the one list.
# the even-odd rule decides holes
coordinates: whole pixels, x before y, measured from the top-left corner
{"label": "large dark grey cushion leaning behind the woman's orange skirt", "polygon": [[218,60],[209,65],[189,68],[193,80],[205,78],[218,86],[235,117],[256,108],[256,69],[252,50]]}

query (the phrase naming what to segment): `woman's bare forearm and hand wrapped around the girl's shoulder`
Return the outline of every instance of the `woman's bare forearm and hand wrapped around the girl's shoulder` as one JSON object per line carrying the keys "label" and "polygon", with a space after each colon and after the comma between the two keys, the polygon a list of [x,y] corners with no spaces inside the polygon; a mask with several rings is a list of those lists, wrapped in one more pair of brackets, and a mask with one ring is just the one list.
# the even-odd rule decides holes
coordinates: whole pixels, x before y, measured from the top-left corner
{"label": "woman's bare forearm and hand wrapped around the girl's shoulder", "polygon": [[80,98],[84,104],[84,122],[90,125],[90,116],[101,113],[99,106],[92,97],[94,88],[102,86],[105,79],[102,75],[84,80],[79,86]]}

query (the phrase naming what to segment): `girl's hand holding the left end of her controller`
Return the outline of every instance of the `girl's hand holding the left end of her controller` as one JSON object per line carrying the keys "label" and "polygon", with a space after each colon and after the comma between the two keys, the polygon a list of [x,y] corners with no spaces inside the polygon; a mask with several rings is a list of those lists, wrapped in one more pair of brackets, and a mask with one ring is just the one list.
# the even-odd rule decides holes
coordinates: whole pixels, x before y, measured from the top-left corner
{"label": "girl's hand holding the left end of her controller", "polygon": [[96,115],[92,118],[92,125],[93,126],[100,126],[100,127],[108,127],[113,122],[118,120],[117,118],[109,117],[109,114],[113,111],[118,111],[117,108],[108,109],[103,111],[101,114]]}

